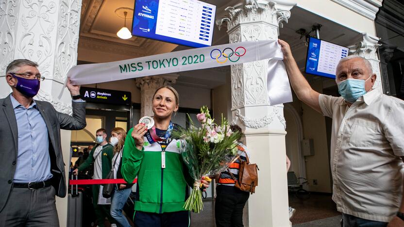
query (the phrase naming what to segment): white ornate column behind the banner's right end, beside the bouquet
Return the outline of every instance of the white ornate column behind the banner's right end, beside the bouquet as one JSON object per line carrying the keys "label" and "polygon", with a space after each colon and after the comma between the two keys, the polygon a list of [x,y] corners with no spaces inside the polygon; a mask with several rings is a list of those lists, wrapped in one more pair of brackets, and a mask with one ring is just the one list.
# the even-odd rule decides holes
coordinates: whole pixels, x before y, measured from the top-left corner
{"label": "white ornate column behind the banner's right end, beside the bouquet", "polygon": [[[230,43],[278,39],[294,5],[292,0],[245,0],[240,8],[227,7],[228,15],[217,25],[227,25]],[[232,115],[260,168],[259,186],[248,201],[249,226],[286,227],[286,121],[283,105],[269,106],[267,65],[264,60],[231,66]]]}

